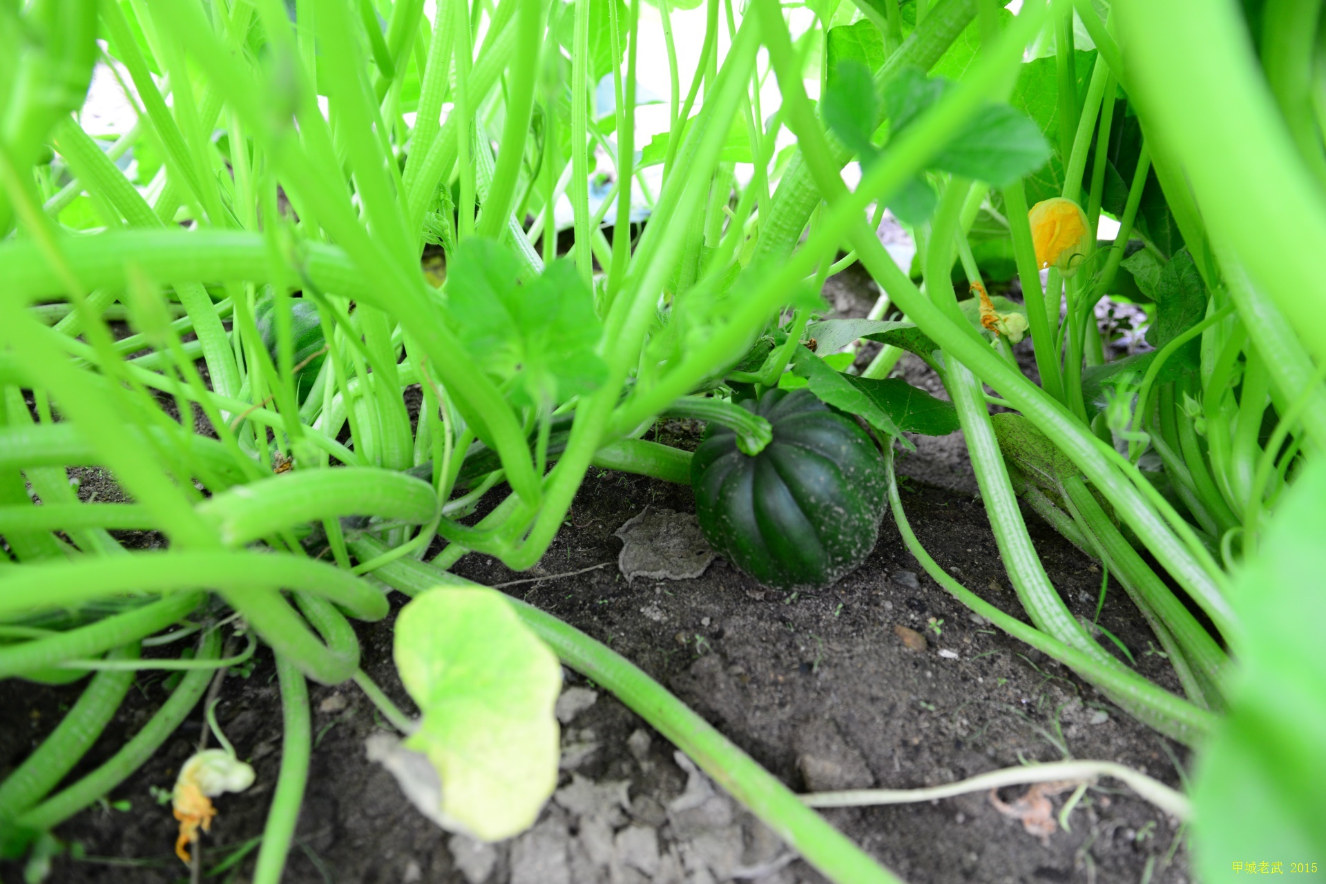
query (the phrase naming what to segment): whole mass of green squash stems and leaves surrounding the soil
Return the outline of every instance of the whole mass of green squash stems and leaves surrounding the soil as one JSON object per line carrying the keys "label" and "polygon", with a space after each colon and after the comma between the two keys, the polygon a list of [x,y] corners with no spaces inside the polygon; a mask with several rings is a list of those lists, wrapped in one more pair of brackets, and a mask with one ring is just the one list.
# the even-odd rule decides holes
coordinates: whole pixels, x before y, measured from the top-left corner
{"label": "whole mass of green squash stems and leaves surrounding the soil", "polygon": [[[1196,843],[1212,880],[1221,851],[1323,846],[1311,747],[1326,741],[1326,661],[1306,637],[1326,445],[1319,9],[814,0],[794,34],[801,4],[705,0],[699,61],[682,72],[672,21],[687,5],[0,4],[0,677],[94,673],[0,783],[0,851],[48,857],[46,834],[141,766],[259,640],[286,738],[256,881],[280,879],[293,836],[306,679],[355,680],[412,734],[403,751],[427,757],[443,797],[475,746],[520,753],[529,793],[485,791],[464,770],[457,794],[497,798],[465,818],[446,798],[426,807],[509,834],[556,782],[550,648],[826,876],[896,880],[627,661],[448,571],[469,551],[536,565],[591,465],[688,482],[687,452],[642,439],[660,415],[723,428],[749,465],[778,440],[758,403],[797,387],[786,400],[817,400],[817,420],[878,445],[789,468],[871,476],[861,518],[819,526],[825,549],[859,561],[887,497],[947,590],[1207,751]],[[640,144],[654,28],[668,131]],[[133,86],[138,121],[114,140],[78,119],[99,57]],[[761,107],[768,81],[777,109]],[[598,154],[613,174],[594,207]],[[912,268],[876,237],[886,209],[915,240]],[[1113,244],[1095,241],[1103,216]],[[424,247],[444,274],[422,266]],[[857,261],[884,296],[867,318],[823,319],[823,281]],[[987,294],[1012,280],[1021,302]],[[1150,351],[1109,358],[1094,314],[1107,296],[1144,305]],[[1026,333],[1038,382],[1012,349]],[[863,342],[882,349],[858,371]],[[904,353],[948,402],[888,378]],[[959,427],[1030,624],[953,580],[906,526],[894,449]],[[81,500],[70,467],[106,468],[125,501]],[[784,490],[835,488],[794,478]],[[496,489],[488,516],[461,521]],[[720,502],[756,512],[700,509]],[[1181,693],[1070,614],[1021,504],[1116,578]],[[711,533],[751,546],[751,521]],[[126,529],[164,547],[126,550],[113,533]],[[420,596],[396,644],[419,722],[358,665],[350,620],[387,615],[383,584]],[[471,648],[476,628],[504,641]],[[420,641],[434,632],[446,647]],[[182,677],[107,762],[56,791],[146,668]],[[448,709],[487,724],[459,733]],[[522,728],[540,751],[499,738]],[[1274,824],[1231,826],[1248,807]]]}

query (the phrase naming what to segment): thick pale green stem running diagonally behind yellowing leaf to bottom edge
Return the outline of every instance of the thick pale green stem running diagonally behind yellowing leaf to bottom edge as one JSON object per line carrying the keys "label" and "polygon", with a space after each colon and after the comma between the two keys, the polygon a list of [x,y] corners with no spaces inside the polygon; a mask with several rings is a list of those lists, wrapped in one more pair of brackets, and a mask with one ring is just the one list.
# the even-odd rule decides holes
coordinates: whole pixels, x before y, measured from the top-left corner
{"label": "thick pale green stem running diagonally behind yellowing leaf to bottom edge", "polygon": [[[353,542],[351,547],[361,557],[382,551],[382,545],[369,538]],[[383,569],[379,577],[406,595],[418,595],[439,584],[472,586],[463,578],[414,561],[396,562]],[[507,600],[562,663],[611,691],[830,880],[853,884],[898,881],[859,847],[806,808],[786,786],[629,660],[530,604],[513,598]]]}

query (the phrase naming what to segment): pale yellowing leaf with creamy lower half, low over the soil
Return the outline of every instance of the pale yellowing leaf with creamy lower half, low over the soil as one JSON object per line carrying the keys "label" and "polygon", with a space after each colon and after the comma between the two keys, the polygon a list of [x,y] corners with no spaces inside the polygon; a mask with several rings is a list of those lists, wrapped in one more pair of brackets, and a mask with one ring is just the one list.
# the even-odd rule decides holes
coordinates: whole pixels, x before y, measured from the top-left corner
{"label": "pale yellowing leaf with creamy lower half, low over the soil", "polygon": [[400,610],[395,661],[422,712],[404,745],[442,781],[434,819],[483,840],[532,826],[557,787],[557,655],[500,592],[439,587]]}

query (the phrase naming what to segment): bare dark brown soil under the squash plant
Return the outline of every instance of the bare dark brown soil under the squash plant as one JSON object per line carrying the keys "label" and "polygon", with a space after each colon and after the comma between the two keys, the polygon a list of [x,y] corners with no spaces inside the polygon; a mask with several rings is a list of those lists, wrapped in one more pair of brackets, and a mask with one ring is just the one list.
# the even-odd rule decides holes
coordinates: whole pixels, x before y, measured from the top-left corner
{"label": "bare dark brown soil under the squash plant", "polygon": [[[903,371],[923,380],[919,363],[904,363]],[[671,424],[662,432],[686,443],[690,428]],[[916,477],[904,482],[903,494],[914,529],[943,567],[1002,610],[1018,612],[985,510],[972,494],[960,435],[922,443],[918,455],[899,464],[900,473]],[[85,498],[98,478],[84,476]],[[931,786],[1063,757],[1116,761],[1179,785],[1175,763],[1187,758],[1181,747],[969,614],[922,573],[891,520],[858,571],[821,592],[782,594],[721,559],[696,579],[627,582],[617,567],[622,541],[614,531],[646,506],[693,512],[688,488],[591,470],[569,524],[533,571],[516,574],[481,555],[461,559],[455,570],[610,644],[796,790]],[[1074,614],[1090,619],[1099,571],[1034,517],[1028,522],[1054,584]],[[363,667],[411,709],[391,663],[392,620],[359,627]],[[1140,616],[1113,582],[1101,623],[1131,649],[1140,672],[1177,689]],[[924,649],[908,648],[898,627],[923,636]],[[284,880],[823,880],[721,793],[709,795],[708,781],[607,692],[574,673],[568,685],[575,691],[564,697],[562,789],[530,832],[496,847],[438,830],[366,758],[365,738],[386,725],[355,687],[313,685],[313,767]],[[78,691],[0,684],[0,775],[50,732]],[[105,761],[164,693],[162,676],[145,673],[76,775]],[[217,799],[220,815],[203,842],[208,872],[252,850],[261,835],[281,750],[269,655],[260,652],[248,675],[228,677],[220,696],[221,726],[257,769],[257,783]],[[127,810],[94,807],[58,827],[56,835],[76,846],[81,859],[58,857],[48,880],[187,880],[172,854],[170,807],[152,790],[170,790],[202,726],[199,708],[110,795],[115,806],[127,802]],[[1012,803],[1022,793],[1008,789],[1000,798]],[[1066,798],[1053,799],[1055,814]],[[826,816],[916,884],[1189,880],[1175,822],[1113,783],[1089,790],[1071,814],[1071,830],[1055,828],[1044,842],[983,793]],[[253,856],[203,880],[247,881]],[[0,863],[0,880],[23,880],[21,867]]]}

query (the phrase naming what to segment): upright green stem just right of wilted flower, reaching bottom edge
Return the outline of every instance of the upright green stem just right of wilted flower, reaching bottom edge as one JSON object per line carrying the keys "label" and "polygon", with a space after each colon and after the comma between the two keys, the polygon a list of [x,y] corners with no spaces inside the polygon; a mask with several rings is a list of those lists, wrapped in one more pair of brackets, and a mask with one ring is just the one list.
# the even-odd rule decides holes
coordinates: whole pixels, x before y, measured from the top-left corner
{"label": "upright green stem just right of wilted flower, reaching bottom edge", "polygon": [[309,687],[304,673],[284,655],[276,655],[276,675],[281,684],[281,773],[277,774],[272,807],[263,827],[263,847],[253,868],[253,884],[277,884],[294,840],[294,827],[309,782],[313,728],[309,714]]}

